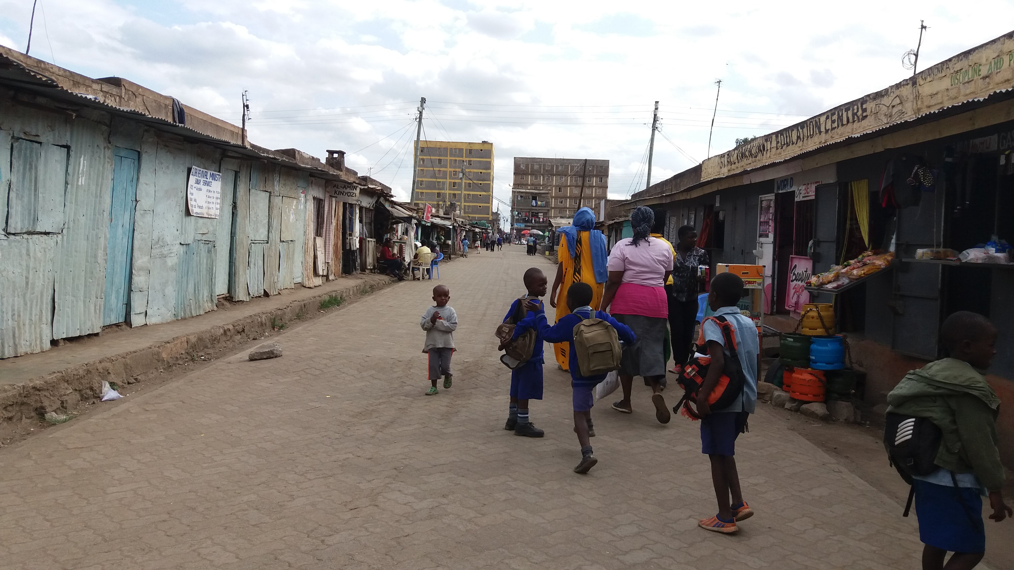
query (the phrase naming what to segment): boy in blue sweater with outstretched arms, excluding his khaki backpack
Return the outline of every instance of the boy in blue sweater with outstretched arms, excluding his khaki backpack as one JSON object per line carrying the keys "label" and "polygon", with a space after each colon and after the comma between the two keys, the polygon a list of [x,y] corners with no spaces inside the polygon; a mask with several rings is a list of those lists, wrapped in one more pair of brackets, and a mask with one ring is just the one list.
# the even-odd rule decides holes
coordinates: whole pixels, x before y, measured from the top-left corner
{"label": "boy in blue sweater with outstretched arms, excluding his khaki backpack", "polygon": [[[534,318],[525,319],[514,329],[514,338],[521,335],[529,328],[538,331],[540,340],[548,343],[570,343],[570,353],[577,354],[574,349],[574,327],[585,318],[600,318],[605,320],[617,330],[620,340],[632,345],[637,341],[637,337],[630,327],[612,318],[608,313],[595,310],[589,306],[592,299],[591,285],[587,283],[574,283],[567,289],[567,306],[571,309],[570,314],[550,327],[546,319],[546,311],[541,304],[528,301],[528,308],[534,312]],[[532,323],[532,320],[534,323]],[[570,367],[571,388],[573,390],[574,403],[574,432],[577,433],[577,440],[581,444],[581,462],[574,468],[574,473],[586,474],[598,462],[592,454],[590,438],[595,435],[595,427],[591,423],[591,408],[595,405],[593,390],[595,386],[605,379],[605,374],[595,374],[594,376],[582,376],[581,368],[577,364]]]}

